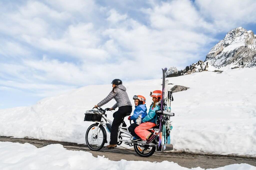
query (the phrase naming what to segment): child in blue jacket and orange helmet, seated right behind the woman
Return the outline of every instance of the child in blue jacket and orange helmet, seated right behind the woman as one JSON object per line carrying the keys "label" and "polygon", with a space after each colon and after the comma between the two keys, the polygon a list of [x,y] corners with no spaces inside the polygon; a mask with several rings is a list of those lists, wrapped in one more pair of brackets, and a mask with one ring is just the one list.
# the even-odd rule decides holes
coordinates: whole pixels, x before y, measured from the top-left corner
{"label": "child in blue jacket and orange helmet, seated right behind the woman", "polygon": [[147,107],[146,107],[146,99],[142,95],[133,96],[135,110],[132,116],[128,117],[128,120],[133,120],[133,124],[128,127],[129,132],[133,136],[133,140],[140,139],[134,129],[141,124],[142,119],[147,116]]}

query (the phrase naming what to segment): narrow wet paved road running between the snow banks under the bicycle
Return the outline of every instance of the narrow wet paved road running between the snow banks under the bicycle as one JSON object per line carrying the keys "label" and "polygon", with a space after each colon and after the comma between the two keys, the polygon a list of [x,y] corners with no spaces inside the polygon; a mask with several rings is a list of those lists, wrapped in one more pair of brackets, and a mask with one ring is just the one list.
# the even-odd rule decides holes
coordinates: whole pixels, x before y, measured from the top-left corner
{"label": "narrow wet paved road running between the snow banks under the bicycle", "polygon": [[93,156],[105,156],[110,160],[119,161],[121,159],[125,160],[135,160],[135,161],[150,161],[150,162],[162,162],[162,161],[173,161],[178,163],[180,166],[187,168],[198,167],[201,168],[217,168],[230,164],[240,164],[247,163],[253,166],[256,166],[256,158],[249,157],[236,157],[236,156],[223,156],[223,155],[198,155],[198,154],[187,154],[187,153],[157,153],[155,152],[151,157],[143,158],[137,156],[134,151],[126,149],[112,149],[108,150],[103,148],[101,151],[93,152],[89,150],[86,146],[76,143],[68,142],[58,142],[58,141],[48,141],[48,140],[37,140],[37,139],[27,139],[27,138],[10,138],[0,136],[0,141],[10,141],[10,142],[19,142],[19,143],[30,143],[36,147],[44,147],[48,144],[62,144],[64,148],[69,150],[82,150],[88,151],[93,154]]}

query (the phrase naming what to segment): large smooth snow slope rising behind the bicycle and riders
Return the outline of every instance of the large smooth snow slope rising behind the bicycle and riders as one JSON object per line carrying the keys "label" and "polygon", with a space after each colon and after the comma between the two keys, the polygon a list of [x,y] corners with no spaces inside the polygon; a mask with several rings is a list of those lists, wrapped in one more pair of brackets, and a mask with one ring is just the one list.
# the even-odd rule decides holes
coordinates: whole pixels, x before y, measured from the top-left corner
{"label": "large smooth snow slope rising behind the bicycle and riders", "polygon": [[[167,78],[173,83],[168,88],[189,87],[174,93],[174,151],[256,156],[255,75],[253,67]],[[124,86],[131,101],[133,95],[141,94],[149,107],[149,93],[161,89],[161,83],[162,79],[155,79],[124,82]],[[92,123],[83,121],[84,113],[111,88],[111,84],[86,86],[31,107],[0,110],[0,135],[85,143],[85,132]],[[112,118],[111,112],[108,117]]]}

